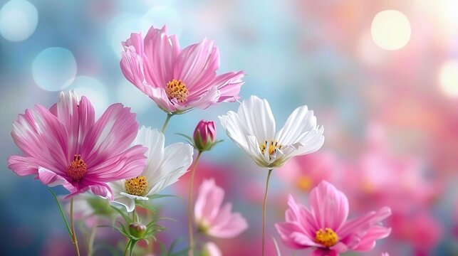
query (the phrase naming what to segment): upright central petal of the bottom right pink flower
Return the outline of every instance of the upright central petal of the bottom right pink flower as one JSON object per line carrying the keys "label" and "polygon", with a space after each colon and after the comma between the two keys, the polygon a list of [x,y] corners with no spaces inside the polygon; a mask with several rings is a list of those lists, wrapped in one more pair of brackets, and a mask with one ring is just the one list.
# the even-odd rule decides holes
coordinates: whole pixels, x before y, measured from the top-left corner
{"label": "upright central petal of the bottom right pink flower", "polygon": [[348,199],[331,183],[321,181],[311,190],[311,214],[321,228],[338,230],[348,217]]}

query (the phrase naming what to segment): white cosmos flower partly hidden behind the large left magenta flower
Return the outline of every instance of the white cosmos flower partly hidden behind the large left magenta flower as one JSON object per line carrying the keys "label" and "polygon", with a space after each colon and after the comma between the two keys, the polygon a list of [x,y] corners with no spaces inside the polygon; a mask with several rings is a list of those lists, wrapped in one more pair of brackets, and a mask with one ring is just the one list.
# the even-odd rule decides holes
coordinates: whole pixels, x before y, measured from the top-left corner
{"label": "white cosmos flower partly hidden behind the large left magenta flower", "polygon": [[178,181],[192,164],[193,147],[174,143],[164,148],[164,134],[157,129],[142,127],[132,144],[146,146],[147,164],[140,176],[109,183],[113,201],[131,212],[135,200],[148,200],[150,196]]}

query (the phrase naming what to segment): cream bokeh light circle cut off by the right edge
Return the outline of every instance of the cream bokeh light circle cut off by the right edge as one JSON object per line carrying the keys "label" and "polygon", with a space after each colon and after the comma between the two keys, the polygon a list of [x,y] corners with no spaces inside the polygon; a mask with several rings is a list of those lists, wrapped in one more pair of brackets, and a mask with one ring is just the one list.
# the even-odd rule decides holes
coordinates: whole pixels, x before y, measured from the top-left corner
{"label": "cream bokeh light circle cut off by the right edge", "polygon": [[439,84],[445,95],[458,97],[458,60],[444,63],[439,70]]}

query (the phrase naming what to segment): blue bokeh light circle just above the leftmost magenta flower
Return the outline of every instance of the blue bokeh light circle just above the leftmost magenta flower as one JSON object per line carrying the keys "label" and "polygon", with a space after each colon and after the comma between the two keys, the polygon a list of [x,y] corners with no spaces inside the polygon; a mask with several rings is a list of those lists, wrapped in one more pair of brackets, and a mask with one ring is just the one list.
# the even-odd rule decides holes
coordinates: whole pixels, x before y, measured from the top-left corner
{"label": "blue bokeh light circle just above the leftmost magenta flower", "polygon": [[33,60],[32,76],[43,90],[63,90],[76,76],[75,56],[66,48],[46,48]]}

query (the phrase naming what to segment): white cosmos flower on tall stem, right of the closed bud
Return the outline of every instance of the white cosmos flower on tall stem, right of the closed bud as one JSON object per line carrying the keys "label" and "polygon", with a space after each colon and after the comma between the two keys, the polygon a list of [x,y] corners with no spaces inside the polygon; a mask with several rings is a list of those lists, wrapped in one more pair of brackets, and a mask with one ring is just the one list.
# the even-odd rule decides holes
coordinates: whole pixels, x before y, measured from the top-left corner
{"label": "white cosmos flower on tall stem, right of the closed bud", "polygon": [[324,129],[317,127],[307,106],[296,108],[278,133],[269,102],[256,96],[241,102],[237,112],[218,118],[227,136],[261,167],[282,166],[293,156],[317,151],[324,142]]}

